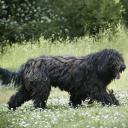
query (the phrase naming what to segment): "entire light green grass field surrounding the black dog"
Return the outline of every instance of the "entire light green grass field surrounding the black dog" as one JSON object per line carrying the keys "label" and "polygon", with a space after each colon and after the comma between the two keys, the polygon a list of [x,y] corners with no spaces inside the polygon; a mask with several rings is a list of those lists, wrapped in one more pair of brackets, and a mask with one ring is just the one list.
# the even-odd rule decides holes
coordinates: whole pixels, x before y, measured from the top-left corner
{"label": "entire light green grass field surrounding the black dog", "polygon": [[[0,55],[0,66],[16,70],[28,58],[39,55],[74,55],[83,56],[104,48],[119,50],[128,66],[128,35],[119,28],[117,36],[109,39],[107,32],[101,39],[84,37],[77,41],[64,43],[40,39],[40,44],[14,45],[8,47],[6,54]],[[120,80],[113,81],[109,88],[115,90],[121,105],[105,106],[94,103],[76,109],[68,106],[68,94],[59,89],[52,89],[45,110],[34,109],[32,101],[16,111],[7,108],[9,97],[16,92],[13,87],[0,87],[0,128],[128,128],[128,70]]]}

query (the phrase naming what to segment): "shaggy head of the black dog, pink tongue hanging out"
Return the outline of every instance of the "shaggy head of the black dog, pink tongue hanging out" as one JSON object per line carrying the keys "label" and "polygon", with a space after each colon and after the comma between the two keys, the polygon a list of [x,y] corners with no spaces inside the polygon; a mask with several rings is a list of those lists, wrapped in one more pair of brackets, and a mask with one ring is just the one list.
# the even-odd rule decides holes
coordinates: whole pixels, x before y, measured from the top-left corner
{"label": "shaggy head of the black dog, pink tongue hanging out", "polygon": [[122,55],[114,49],[105,49],[99,52],[97,62],[100,76],[110,80],[120,79],[120,74],[126,68]]}

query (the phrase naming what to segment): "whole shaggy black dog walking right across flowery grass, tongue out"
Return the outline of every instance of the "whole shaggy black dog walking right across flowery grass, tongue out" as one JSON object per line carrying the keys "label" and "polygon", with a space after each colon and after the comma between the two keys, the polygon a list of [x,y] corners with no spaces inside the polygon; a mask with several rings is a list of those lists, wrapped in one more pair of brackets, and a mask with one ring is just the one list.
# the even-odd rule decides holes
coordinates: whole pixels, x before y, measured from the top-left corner
{"label": "whole shaggy black dog walking right across flowery grass, tongue out", "polygon": [[76,107],[86,98],[103,105],[119,105],[107,85],[119,79],[126,68],[122,55],[114,49],[83,57],[41,56],[28,60],[19,71],[0,68],[3,83],[13,79],[19,84],[18,92],[10,98],[9,108],[16,109],[32,99],[35,107],[46,107],[51,86],[70,94],[69,104]]}

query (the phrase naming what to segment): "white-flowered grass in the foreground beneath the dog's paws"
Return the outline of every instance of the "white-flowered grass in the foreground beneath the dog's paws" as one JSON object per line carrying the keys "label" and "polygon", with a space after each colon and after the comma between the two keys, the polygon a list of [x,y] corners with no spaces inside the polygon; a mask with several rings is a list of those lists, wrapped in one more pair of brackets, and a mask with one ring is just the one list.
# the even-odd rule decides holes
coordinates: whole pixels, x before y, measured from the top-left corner
{"label": "white-flowered grass in the foreground beneath the dog's paws", "polygon": [[[54,90],[57,91],[57,90]],[[123,94],[123,95],[122,95]],[[121,106],[103,107],[84,103],[82,107],[71,108],[68,98],[50,97],[48,109],[34,109],[27,102],[15,112],[9,111],[6,104],[0,106],[1,128],[127,128],[128,93],[118,93]]]}

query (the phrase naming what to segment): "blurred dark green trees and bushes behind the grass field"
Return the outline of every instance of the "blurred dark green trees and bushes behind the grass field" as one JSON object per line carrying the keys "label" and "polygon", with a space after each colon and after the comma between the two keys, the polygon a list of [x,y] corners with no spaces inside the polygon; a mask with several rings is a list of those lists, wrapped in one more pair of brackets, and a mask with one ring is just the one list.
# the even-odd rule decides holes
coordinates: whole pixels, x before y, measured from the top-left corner
{"label": "blurred dark green trees and bushes behind the grass field", "polygon": [[0,50],[29,40],[65,40],[118,24],[128,27],[127,0],[0,0]]}

